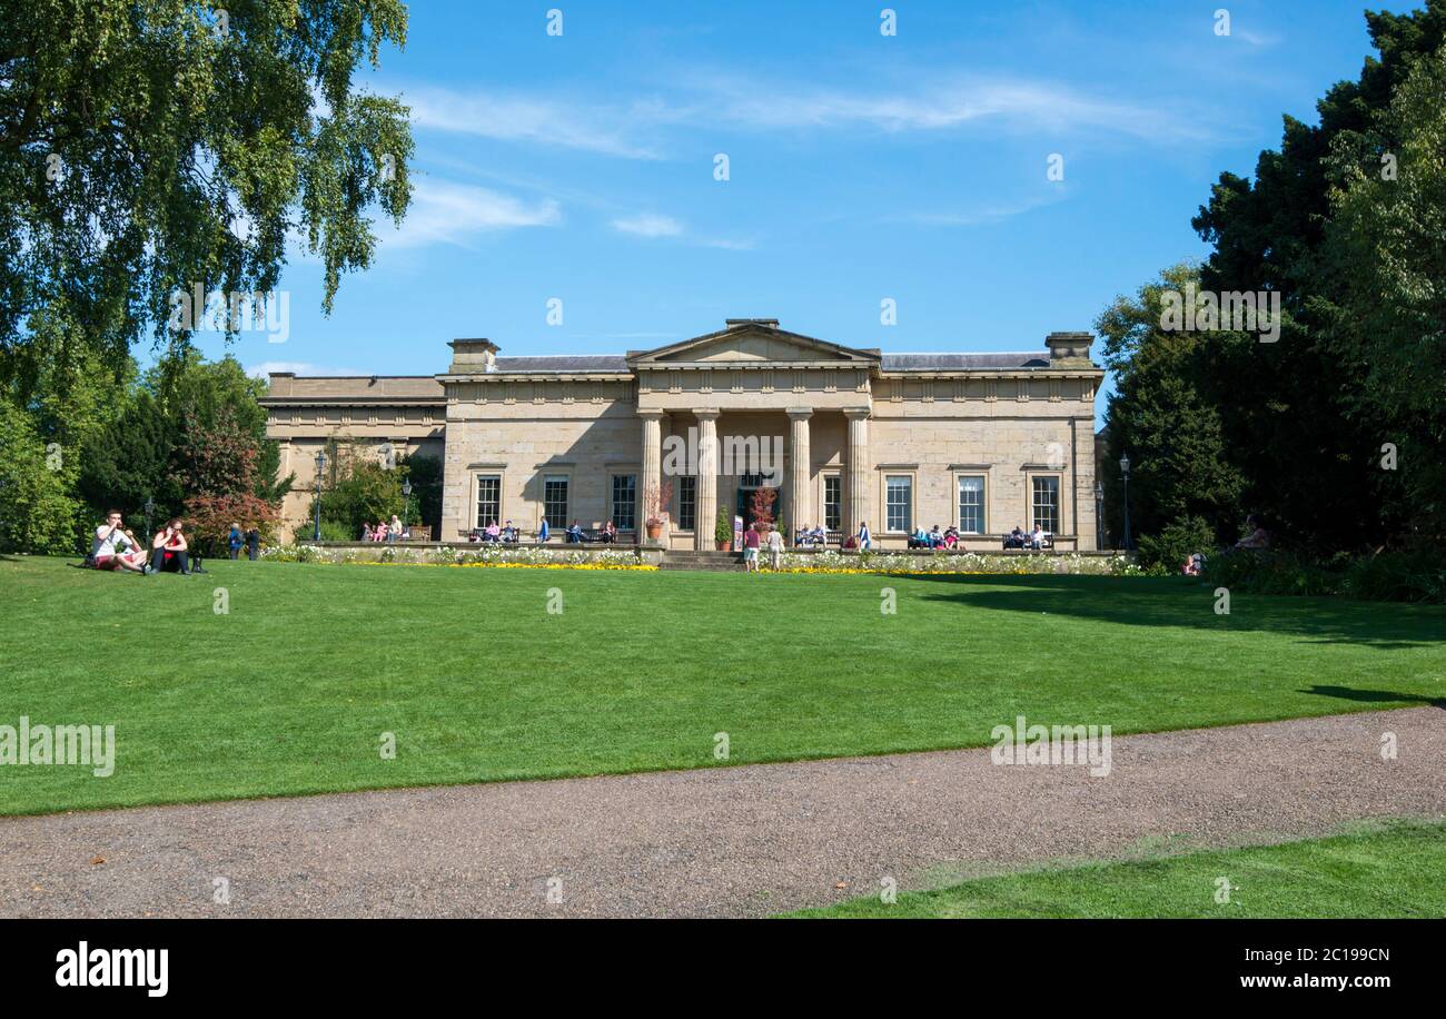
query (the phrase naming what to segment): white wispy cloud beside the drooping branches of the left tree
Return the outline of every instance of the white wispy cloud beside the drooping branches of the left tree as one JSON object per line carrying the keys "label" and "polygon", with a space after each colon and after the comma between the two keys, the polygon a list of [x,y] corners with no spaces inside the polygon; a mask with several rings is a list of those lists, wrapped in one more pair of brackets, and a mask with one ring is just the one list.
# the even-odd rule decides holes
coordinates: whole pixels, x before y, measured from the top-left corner
{"label": "white wispy cloud beside the drooping branches of the left tree", "polygon": [[561,208],[551,198],[526,202],[489,188],[424,176],[415,184],[401,228],[392,230],[383,220],[376,224],[376,234],[383,250],[429,244],[470,247],[480,234],[549,227],[561,220]]}

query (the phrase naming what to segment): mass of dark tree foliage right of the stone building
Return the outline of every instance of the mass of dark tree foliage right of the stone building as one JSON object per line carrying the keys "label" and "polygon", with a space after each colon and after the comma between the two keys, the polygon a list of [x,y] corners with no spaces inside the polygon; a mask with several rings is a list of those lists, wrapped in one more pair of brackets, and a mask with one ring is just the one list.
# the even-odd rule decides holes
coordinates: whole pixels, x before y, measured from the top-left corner
{"label": "mass of dark tree foliage right of the stone building", "polygon": [[1213,246],[1200,286],[1280,295],[1278,341],[1161,332],[1152,288],[1180,269],[1100,318],[1121,383],[1109,451],[1138,464],[1139,530],[1219,533],[1254,510],[1325,551],[1446,535],[1446,0],[1366,25],[1379,58],[1326,93],[1319,124],[1287,116],[1254,178],[1222,173],[1193,220]]}

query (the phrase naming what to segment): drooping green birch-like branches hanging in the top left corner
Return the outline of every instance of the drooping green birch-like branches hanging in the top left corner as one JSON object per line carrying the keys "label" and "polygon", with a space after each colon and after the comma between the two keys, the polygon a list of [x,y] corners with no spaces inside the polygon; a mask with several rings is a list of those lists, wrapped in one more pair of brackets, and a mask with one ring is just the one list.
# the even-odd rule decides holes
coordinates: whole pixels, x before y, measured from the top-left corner
{"label": "drooping green birch-like branches hanging in the top left corner", "polygon": [[273,291],[291,238],[330,311],[409,202],[408,110],[353,82],[405,39],[401,0],[0,0],[0,369],[45,322],[184,345],[172,295]]}

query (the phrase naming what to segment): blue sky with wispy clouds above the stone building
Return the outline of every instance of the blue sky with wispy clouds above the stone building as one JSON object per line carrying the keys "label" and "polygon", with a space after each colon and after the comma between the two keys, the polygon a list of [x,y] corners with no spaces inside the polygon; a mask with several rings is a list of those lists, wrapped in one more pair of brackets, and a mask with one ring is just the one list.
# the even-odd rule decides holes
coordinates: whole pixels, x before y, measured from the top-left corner
{"label": "blue sky with wispy clouds above the stone building", "polygon": [[1216,176],[1249,173],[1281,113],[1313,121],[1369,52],[1362,0],[889,6],[892,38],[879,1],[416,0],[405,52],[366,75],[412,106],[408,221],[377,224],[330,318],[320,266],[294,257],[286,343],[230,350],[425,374],[455,337],[617,353],[730,317],[889,351],[1038,350],[1203,257],[1190,217]]}

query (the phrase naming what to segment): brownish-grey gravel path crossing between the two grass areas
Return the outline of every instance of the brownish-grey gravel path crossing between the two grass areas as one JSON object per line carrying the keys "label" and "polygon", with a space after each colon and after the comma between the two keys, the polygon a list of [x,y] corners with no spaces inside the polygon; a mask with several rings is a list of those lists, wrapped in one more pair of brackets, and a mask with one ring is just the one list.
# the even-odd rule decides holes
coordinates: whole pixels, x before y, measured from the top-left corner
{"label": "brownish-grey gravel path crossing between the two grass areas", "polygon": [[3,818],[0,915],[762,915],[870,895],[884,877],[924,887],[1446,815],[1439,708],[1112,750],[1108,778],[960,750]]}

